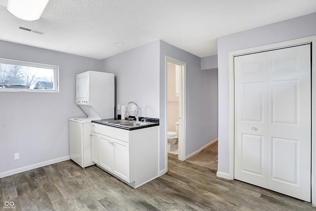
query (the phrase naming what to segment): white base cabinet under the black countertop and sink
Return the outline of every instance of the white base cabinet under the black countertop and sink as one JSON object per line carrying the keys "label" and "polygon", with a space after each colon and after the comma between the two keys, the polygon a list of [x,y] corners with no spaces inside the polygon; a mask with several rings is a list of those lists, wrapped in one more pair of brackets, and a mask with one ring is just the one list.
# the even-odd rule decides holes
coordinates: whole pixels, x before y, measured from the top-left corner
{"label": "white base cabinet under the black countertop and sink", "polygon": [[98,167],[134,188],[158,177],[158,126],[130,131],[95,125],[92,159]]}

